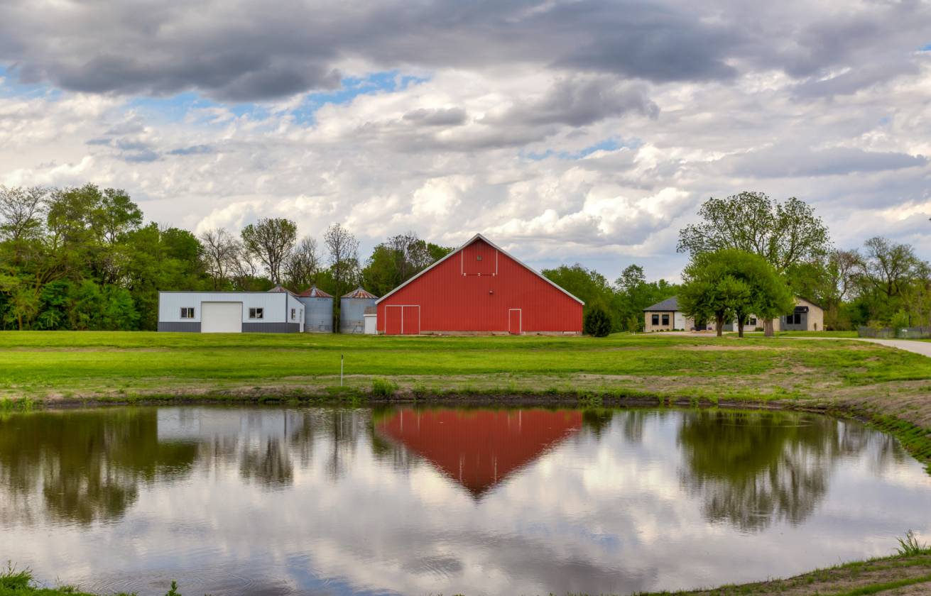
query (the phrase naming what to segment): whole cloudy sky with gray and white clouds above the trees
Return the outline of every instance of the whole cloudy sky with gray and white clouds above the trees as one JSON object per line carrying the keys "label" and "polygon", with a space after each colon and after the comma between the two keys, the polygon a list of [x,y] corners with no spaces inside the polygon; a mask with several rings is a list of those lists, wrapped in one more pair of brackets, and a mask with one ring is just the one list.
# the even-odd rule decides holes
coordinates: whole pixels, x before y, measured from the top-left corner
{"label": "whole cloudy sky with gray and white clouds above the trees", "polygon": [[677,277],[708,196],[931,258],[931,4],[4,0],[0,184]]}

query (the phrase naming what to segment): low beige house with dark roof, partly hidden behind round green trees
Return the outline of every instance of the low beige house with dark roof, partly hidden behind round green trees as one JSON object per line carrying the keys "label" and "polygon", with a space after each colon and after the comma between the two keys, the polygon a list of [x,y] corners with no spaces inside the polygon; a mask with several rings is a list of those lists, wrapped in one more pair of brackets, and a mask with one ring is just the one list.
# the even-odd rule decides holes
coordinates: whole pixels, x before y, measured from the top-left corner
{"label": "low beige house with dark roof, partly hidden behind round green trees", "polygon": [[[749,321],[744,325],[745,331],[762,329],[762,319],[751,314]],[[708,324],[708,328],[713,328],[713,324]],[[695,320],[686,317],[679,310],[679,300],[675,297],[667,298],[662,302],[657,302],[653,306],[643,309],[643,330],[650,331],[690,331],[703,330],[706,325],[695,325]],[[776,331],[823,331],[824,330],[824,310],[816,303],[806,298],[795,297],[795,309],[788,314],[780,316],[773,321],[773,328]],[[736,331],[736,321],[725,323],[724,331]]]}

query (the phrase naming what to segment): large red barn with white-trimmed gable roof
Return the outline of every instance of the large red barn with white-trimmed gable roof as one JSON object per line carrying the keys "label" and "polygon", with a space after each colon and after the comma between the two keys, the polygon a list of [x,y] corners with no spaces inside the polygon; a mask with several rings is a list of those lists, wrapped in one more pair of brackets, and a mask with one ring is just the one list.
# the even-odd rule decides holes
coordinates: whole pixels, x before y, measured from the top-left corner
{"label": "large red barn with white-trimmed gable roof", "polygon": [[581,334],[584,302],[476,234],[377,302],[378,333]]}

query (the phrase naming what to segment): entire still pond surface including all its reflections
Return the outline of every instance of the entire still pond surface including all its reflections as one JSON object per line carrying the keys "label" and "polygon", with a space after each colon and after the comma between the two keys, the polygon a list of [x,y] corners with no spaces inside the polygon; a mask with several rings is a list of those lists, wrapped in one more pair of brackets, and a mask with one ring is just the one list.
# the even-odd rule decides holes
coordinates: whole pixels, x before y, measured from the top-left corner
{"label": "entire still pond surface including all its reflections", "polygon": [[0,560],[164,594],[629,593],[931,539],[895,439],[805,414],[158,407],[0,417]]}

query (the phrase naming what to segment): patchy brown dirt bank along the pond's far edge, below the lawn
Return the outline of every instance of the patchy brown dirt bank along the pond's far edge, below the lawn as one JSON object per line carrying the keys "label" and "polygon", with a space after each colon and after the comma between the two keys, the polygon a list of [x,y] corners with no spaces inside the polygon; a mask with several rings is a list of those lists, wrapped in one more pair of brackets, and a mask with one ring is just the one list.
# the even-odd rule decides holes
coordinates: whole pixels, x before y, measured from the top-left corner
{"label": "patchy brown dirt bank along the pond's far edge, below the lawn", "polygon": [[[175,387],[171,391],[88,391],[87,393],[52,394],[45,400],[9,399],[0,402],[4,409],[29,407],[73,407],[119,404],[435,404],[435,405],[546,405],[582,408],[600,407],[726,407],[742,409],[778,409],[815,412],[834,417],[855,418],[869,426],[896,436],[906,450],[928,465],[931,473],[931,381],[898,381],[856,387],[801,388],[771,387],[771,391],[740,393],[730,391],[722,397],[708,397],[714,386],[694,377],[653,378],[638,386],[633,377],[578,375],[572,378],[540,379],[539,389],[485,385],[475,387],[464,378],[430,377],[345,377],[352,385],[325,384],[332,380],[308,384],[307,379],[280,379],[291,382],[251,384],[207,388],[201,385]],[[439,390],[436,382],[453,388]],[[664,382],[668,381],[668,382]],[[557,383],[553,385],[551,383]],[[627,382],[634,388],[620,388]],[[612,387],[612,389],[604,389]],[[662,391],[660,388],[665,389]],[[700,391],[695,391],[696,388]],[[733,386],[731,387],[733,390]],[[794,391],[793,391],[794,390]]]}

